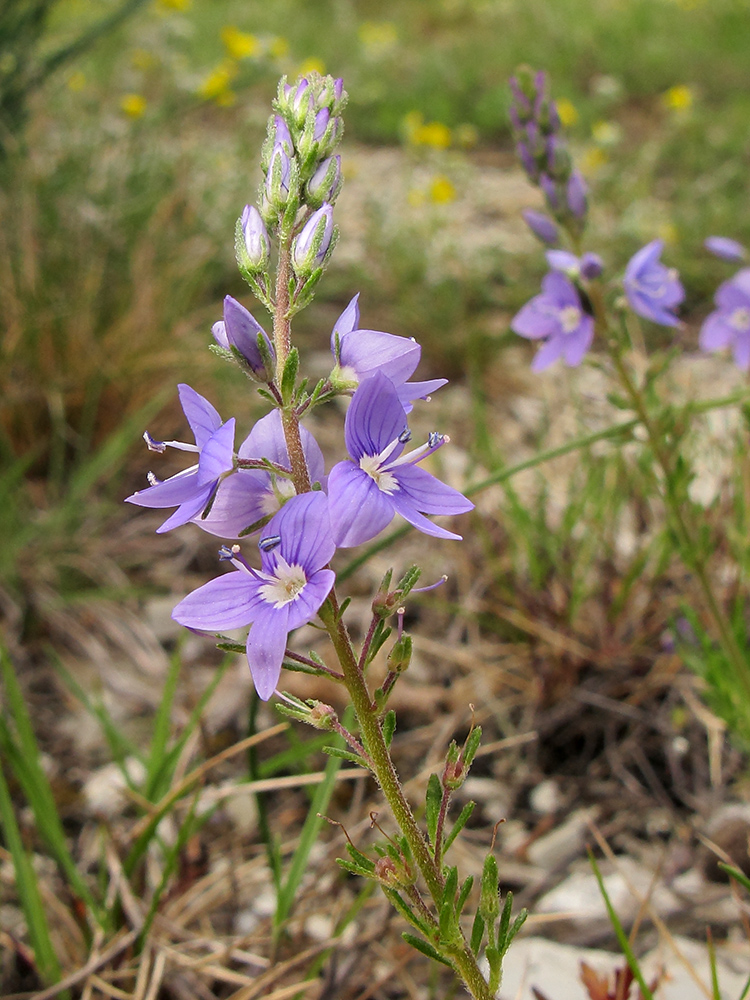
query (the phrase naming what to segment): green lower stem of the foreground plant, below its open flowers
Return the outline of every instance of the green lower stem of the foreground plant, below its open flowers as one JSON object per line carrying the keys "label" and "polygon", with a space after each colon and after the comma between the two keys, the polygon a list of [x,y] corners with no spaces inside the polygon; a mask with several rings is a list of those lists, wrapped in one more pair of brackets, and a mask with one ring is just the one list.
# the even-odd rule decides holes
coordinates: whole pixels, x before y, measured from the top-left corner
{"label": "green lower stem of the foreground plant, below its open flowers", "polygon": [[[341,669],[344,672],[345,683],[352,698],[354,711],[357,714],[362,740],[372,759],[375,778],[391,808],[396,823],[406,837],[417,867],[427,884],[430,896],[437,906],[443,896],[443,874],[401,788],[401,782],[383,737],[377,708],[372,703],[364,675],[352,648],[349,633],[339,613],[334,591],[331,591],[319,614],[331,637]],[[475,1000],[492,1000],[489,987],[465,940],[460,946],[451,949],[449,957]]]}

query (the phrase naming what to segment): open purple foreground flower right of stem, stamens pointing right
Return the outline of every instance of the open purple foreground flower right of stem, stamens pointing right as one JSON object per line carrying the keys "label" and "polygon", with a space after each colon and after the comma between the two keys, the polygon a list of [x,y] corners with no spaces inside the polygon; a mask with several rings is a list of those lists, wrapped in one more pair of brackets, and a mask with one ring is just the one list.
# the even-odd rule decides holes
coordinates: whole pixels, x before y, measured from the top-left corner
{"label": "open purple foreground flower right of stem, stamens pointing right", "polygon": [[460,538],[425,514],[463,514],[474,504],[417,462],[448,439],[432,433],[425,444],[403,454],[411,432],[396,387],[381,372],[366,379],[346,414],[344,438],[351,459],[328,476],[328,505],[334,541],[342,548],[374,538],[400,514],[436,538]]}

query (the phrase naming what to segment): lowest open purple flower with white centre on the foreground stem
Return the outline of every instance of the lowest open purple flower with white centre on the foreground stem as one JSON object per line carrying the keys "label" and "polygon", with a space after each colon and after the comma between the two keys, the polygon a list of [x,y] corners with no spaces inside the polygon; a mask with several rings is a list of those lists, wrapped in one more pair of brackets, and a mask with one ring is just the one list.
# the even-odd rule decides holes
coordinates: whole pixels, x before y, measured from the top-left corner
{"label": "lowest open purple flower with white centre on the foreground stem", "polygon": [[324,493],[303,493],[273,517],[263,532],[261,569],[253,569],[239,546],[225,549],[236,572],[194,590],[172,617],[199,632],[223,632],[252,624],[247,660],[253,683],[267,701],[281,674],[288,635],[317,614],[335,581],[324,567],[335,551]]}

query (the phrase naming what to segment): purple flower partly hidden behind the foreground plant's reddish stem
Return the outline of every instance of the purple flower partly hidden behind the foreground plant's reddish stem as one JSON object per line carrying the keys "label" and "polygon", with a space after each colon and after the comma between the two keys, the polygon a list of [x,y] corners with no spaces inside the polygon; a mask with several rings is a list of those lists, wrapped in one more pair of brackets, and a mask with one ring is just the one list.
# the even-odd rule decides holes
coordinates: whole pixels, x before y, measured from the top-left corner
{"label": "purple flower partly hidden behind the foreground plant's reddish stem", "polygon": [[[310,431],[300,427],[310,481],[325,484],[325,461]],[[281,414],[271,410],[262,417],[239,447],[240,459],[267,459],[283,469],[290,467]],[[238,469],[216,494],[207,516],[194,518],[204,531],[220,538],[240,538],[252,525],[275,514],[296,496],[292,480],[263,469]]]}

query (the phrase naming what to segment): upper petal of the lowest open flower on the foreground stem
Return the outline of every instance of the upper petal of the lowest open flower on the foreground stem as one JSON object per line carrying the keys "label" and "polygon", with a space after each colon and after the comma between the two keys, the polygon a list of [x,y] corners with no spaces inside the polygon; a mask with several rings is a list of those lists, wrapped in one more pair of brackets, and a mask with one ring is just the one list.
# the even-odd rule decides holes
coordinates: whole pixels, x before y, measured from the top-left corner
{"label": "upper petal of the lowest open flower on the foreground stem", "polygon": [[280,555],[290,566],[301,566],[308,578],[330,562],[336,546],[325,493],[315,490],[288,500],[263,529],[261,540],[274,535],[281,538]]}

